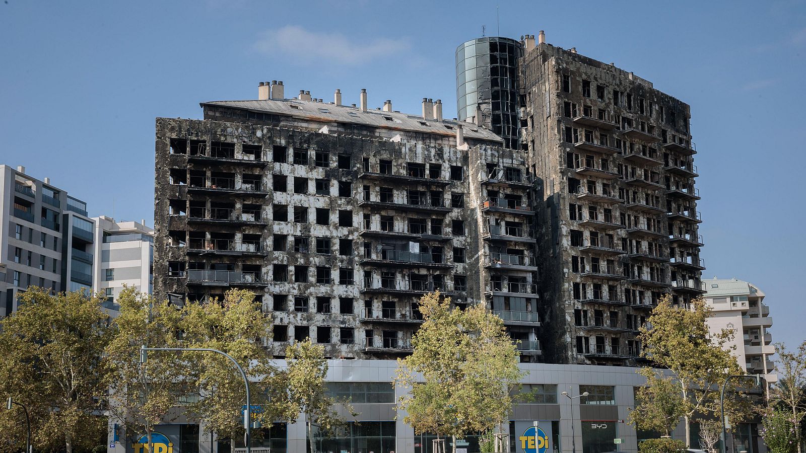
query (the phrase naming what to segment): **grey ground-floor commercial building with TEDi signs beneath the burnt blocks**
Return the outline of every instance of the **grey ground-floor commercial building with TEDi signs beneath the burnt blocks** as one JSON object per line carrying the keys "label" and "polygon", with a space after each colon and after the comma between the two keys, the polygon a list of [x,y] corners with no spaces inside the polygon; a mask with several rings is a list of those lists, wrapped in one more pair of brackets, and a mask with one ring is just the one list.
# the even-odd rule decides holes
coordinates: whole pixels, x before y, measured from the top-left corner
{"label": "grey ground-floor commercial building with TEDi signs beneath the burnt blocks", "polygon": [[[337,435],[316,434],[317,451],[327,453],[431,453],[434,436],[415,435],[403,422],[405,414],[396,413],[397,400],[391,384],[397,364],[393,360],[330,360],[327,379],[334,395],[351,397],[359,415]],[[602,453],[638,451],[638,442],[657,438],[658,433],[636,431],[626,421],[634,406],[634,389],[645,383],[637,368],[592,365],[521,364],[528,374],[521,392],[532,393],[529,403],[513,409],[506,426],[509,451],[526,453],[530,447],[525,431],[538,423],[549,439],[546,453]],[[568,397],[563,395],[568,393]],[[578,397],[588,392],[588,397]],[[573,397],[573,398],[570,398]],[[117,430],[115,429],[117,428]],[[293,423],[276,423],[263,428],[263,438],[252,448],[271,453],[310,451],[305,418]],[[172,424],[156,427],[171,443],[172,451],[163,453],[229,453],[231,443],[206,430],[204,423],[177,418]],[[735,450],[767,453],[754,424],[742,424],[735,430]],[[675,438],[683,438],[678,426]],[[696,429],[692,437],[696,438]],[[135,438],[123,438],[120,425],[110,420],[107,453],[137,453]],[[235,453],[243,453],[243,440],[235,441]],[[447,447],[451,447],[450,439]],[[619,442],[619,443],[617,443]],[[692,439],[696,447],[696,439]],[[479,451],[477,436],[457,442],[466,453]],[[167,446],[166,446],[167,448]],[[239,450],[240,449],[240,450]],[[159,449],[155,450],[159,451]],[[262,450],[261,453],[267,453]]]}

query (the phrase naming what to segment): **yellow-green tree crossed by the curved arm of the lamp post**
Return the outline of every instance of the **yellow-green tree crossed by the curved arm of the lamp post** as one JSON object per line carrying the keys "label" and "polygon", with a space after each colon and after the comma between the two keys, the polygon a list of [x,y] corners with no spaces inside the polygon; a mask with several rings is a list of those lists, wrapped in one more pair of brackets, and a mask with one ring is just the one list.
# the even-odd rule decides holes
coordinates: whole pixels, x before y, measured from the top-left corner
{"label": "yellow-green tree crossed by the curved arm of the lamp post", "polygon": [[[184,347],[210,348],[226,352],[243,368],[250,387],[250,404],[260,409],[252,418],[271,426],[277,418],[287,418],[289,400],[285,379],[273,364],[271,351],[261,339],[272,332],[272,318],[264,314],[255,293],[231,289],[222,301],[185,305],[181,312]],[[189,388],[201,396],[187,406],[188,414],[205,420],[210,430],[222,438],[243,435],[242,407],[246,401],[243,377],[223,355],[211,352],[185,352]],[[233,443],[234,447],[234,443]]]}

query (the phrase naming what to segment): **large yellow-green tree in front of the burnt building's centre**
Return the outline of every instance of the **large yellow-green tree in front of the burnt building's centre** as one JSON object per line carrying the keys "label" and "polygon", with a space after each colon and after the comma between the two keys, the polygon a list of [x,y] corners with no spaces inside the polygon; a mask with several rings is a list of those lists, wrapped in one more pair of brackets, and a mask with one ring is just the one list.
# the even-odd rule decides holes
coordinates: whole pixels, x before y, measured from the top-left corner
{"label": "large yellow-green tree in front of the burnt building's centre", "polygon": [[[430,293],[420,300],[424,322],[412,338],[413,353],[398,360],[393,384],[403,389],[396,409],[415,434],[455,438],[500,429],[509,417],[509,390],[523,372],[504,322],[484,305],[451,308]],[[420,382],[422,377],[422,382]]]}

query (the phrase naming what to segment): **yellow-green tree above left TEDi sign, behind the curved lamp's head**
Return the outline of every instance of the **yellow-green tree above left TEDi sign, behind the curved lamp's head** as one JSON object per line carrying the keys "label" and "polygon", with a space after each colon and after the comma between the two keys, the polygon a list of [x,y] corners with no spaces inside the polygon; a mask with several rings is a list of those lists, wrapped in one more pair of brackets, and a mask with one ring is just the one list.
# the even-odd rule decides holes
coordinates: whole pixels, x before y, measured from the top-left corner
{"label": "yellow-green tree above left TEDi sign, behind the curved lamp's head", "polygon": [[112,322],[114,337],[106,347],[109,412],[126,426],[127,437],[150,436],[154,425],[180,415],[172,408],[193,389],[181,355],[149,352],[147,363],[140,364],[140,347],[182,347],[181,312],[134,287],[125,287],[117,301],[120,315]]}

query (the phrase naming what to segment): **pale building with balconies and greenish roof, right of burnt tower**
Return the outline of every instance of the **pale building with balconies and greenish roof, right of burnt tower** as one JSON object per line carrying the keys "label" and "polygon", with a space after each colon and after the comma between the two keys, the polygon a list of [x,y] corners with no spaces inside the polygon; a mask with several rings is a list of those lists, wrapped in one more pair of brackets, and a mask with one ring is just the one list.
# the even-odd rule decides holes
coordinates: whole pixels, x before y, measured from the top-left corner
{"label": "pale building with balconies and greenish roof, right of burnt tower", "polygon": [[764,304],[764,293],[748,281],[704,279],[705,302],[713,310],[708,327],[713,333],[733,330],[733,354],[739,365],[750,374],[760,374],[771,384],[778,380],[771,357],[775,355],[770,327],[770,307]]}

